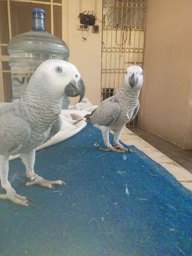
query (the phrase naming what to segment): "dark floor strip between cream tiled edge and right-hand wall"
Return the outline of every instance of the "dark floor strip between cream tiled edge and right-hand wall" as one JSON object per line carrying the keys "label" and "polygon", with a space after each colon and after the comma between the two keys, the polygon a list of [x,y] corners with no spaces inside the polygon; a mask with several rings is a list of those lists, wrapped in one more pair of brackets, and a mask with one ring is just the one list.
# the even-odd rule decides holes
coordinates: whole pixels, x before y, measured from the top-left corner
{"label": "dark floor strip between cream tiled edge and right-hand wall", "polygon": [[192,150],[177,148],[175,145],[166,142],[153,134],[149,134],[138,127],[129,127],[128,129],[192,173]]}

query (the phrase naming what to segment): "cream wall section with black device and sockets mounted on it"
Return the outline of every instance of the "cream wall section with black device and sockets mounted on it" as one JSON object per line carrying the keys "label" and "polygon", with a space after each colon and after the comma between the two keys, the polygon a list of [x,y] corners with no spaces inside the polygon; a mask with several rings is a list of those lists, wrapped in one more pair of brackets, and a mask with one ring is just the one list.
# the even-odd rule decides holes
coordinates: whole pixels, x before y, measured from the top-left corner
{"label": "cream wall section with black device and sockets mounted on it", "polygon": [[[93,105],[100,103],[101,98],[101,61],[102,61],[102,32],[93,33],[92,26],[83,32],[87,40],[82,39],[82,31],[76,29],[80,23],[78,18],[81,11],[93,11],[102,20],[102,0],[68,0],[68,47],[69,61],[76,65],[85,82],[86,94]],[[97,22],[102,30],[102,23]],[[70,99],[74,102],[74,99]]]}

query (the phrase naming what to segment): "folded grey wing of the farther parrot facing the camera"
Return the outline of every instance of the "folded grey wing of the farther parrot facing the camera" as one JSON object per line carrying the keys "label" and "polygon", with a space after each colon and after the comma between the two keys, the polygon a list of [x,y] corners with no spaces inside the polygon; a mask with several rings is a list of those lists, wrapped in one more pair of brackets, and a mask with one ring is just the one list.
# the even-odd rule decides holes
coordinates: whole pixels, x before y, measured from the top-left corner
{"label": "folded grey wing of the farther parrot facing the camera", "polygon": [[115,96],[105,99],[92,113],[84,116],[87,122],[99,126],[109,126],[115,122],[121,108]]}

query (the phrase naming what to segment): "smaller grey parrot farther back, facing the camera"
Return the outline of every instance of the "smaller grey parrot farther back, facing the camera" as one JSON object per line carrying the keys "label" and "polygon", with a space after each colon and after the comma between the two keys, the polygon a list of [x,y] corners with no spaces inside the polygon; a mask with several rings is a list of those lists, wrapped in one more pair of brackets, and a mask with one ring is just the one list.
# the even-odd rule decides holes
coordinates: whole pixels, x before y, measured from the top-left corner
{"label": "smaller grey parrot farther back, facing the camera", "polygon": [[[84,116],[86,122],[91,122],[102,131],[106,148],[104,151],[130,152],[119,143],[122,130],[126,123],[137,115],[140,102],[139,95],[143,85],[143,70],[139,66],[127,68],[122,87],[117,93],[105,99],[92,113]],[[109,131],[113,131],[113,146],[109,141]]]}

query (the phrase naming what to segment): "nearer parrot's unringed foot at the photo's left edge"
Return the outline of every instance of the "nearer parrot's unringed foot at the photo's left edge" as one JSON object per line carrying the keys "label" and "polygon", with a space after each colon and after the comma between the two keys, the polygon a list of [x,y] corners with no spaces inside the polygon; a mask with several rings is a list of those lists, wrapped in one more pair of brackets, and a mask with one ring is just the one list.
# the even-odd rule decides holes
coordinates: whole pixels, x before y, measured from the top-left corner
{"label": "nearer parrot's unringed foot at the photo's left edge", "polygon": [[10,188],[6,194],[0,194],[1,199],[11,200],[15,204],[20,204],[24,206],[29,206],[30,199],[25,196],[18,195],[13,188]]}

